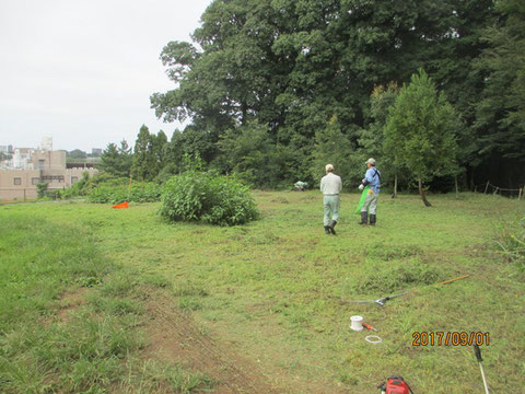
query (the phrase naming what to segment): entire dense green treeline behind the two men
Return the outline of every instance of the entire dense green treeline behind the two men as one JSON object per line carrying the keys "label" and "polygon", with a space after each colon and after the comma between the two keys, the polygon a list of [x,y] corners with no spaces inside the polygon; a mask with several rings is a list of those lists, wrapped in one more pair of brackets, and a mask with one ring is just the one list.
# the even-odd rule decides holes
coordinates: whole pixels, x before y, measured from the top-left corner
{"label": "entire dense green treeline behind the two men", "polygon": [[163,179],[189,154],[289,187],[331,162],[353,187],[374,157],[401,187],[525,183],[522,0],[215,0],[201,20],[164,47],[174,90],[151,96],[191,123],[170,141],[142,127],[107,170]]}

